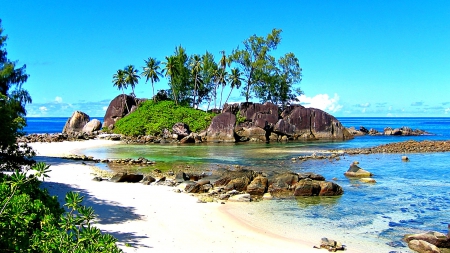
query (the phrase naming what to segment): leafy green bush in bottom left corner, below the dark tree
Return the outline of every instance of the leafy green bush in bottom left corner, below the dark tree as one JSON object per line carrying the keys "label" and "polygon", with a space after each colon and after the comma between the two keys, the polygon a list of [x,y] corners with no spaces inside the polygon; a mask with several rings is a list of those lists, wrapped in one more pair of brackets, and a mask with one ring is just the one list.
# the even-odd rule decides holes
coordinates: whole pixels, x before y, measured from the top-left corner
{"label": "leafy green bush in bottom left corner, below the dark tree", "polygon": [[91,225],[91,207],[69,192],[64,212],[55,196],[39,188],[49,166],[33,166],[36,176],[16,170],[0,173],[0,252],[121,252],[116,239]]}

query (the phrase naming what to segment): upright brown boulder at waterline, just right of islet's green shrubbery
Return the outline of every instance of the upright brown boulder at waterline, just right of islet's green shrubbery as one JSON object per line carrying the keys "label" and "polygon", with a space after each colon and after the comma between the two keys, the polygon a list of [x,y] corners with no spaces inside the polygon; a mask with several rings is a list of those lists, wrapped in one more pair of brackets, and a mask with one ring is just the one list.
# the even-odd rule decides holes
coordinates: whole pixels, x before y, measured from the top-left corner
{"label": "upright brown boulder at waterline, just right of islet's green shrubbery", "polygon": [[236,125],[236,116],[225,112],[215,116],[206,133],[208,142],[235,142],[234,126]]}

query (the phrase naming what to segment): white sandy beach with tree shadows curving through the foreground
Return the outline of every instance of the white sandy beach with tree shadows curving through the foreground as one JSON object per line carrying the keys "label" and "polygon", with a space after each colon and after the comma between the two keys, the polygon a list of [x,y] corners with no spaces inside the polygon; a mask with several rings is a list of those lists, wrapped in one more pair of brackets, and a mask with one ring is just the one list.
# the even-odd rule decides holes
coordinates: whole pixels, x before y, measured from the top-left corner
{"label": "white sandy beach with tree shadows curving through the foreground", "polygon": [[[313,249],[320,241],[283,238],[258,230],[227,213],[227,204],[197,203],[189,194],[167,186],[95,182],[92,168],[58,157],[118,142],[32,143],[38,161],[51,164],[43,182],[64,203],[68,191],[85,196],[98,214],[96,226],[119,240],[124,252],[326,252]],[[237,203],[239,204],[239,203]],[[349,252],[349,251],[347,251]]]}

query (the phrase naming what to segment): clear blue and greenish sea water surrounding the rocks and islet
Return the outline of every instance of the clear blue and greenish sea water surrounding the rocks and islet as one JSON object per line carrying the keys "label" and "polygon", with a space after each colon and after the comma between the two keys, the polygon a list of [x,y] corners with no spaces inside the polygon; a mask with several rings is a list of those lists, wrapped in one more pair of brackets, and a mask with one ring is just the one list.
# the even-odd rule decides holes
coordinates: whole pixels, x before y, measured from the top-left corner
{"label": "clear blue and greenish sea water surrounding the rocks and islet", "polygon": [[[96,158],[138,158],[156,161],[156,167],[186,165],[208,170],[242,165],[254,170],[314,172],[336,180],[340,197],[227,204],[244,222],[281,236],[301,239],[327,237],[356,252],[411,252],[405,234],[447,233],[450,222],[450,153],[345,155],[340,160],[292,161],[293,157],[328,149],[372,147],[406,140],[450,140],[450,118],[338,118],[346,127],[364,126],[380,132],[385,127],[408,126],[430,133],[424,136],[359,136],[348,141],[237,144],[117,145],[80,151]],[[65,119],[67,120],[67,119]],[[29,120],[29,133],[61,129],[60,118]],[[101,119],[100,119],[101,120]],[[46,126],[48,125],[48,126]],[[52,127],[50,127],[52,126]],[[56,132],[60,132],[56,131]],[[343,174],[353,161],[372,172],[376,184],[348,179]]]}

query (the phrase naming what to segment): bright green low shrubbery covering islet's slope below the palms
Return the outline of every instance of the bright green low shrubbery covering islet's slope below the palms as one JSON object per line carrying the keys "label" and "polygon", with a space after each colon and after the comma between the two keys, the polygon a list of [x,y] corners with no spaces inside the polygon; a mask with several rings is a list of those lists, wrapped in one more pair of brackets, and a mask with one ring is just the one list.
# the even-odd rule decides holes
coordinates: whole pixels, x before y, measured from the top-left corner
{"label": "bright green low shrubbery covering islet's slope below the palms", "polygon": [[117,121],[114,132],[128,136],[158,135],[165,128],[172,129],[178,122],[185,123],[191,131],[198,132],[206,129],[214,116],[213,113],[176,105],[173,101],[148,100],[134,113]]}

